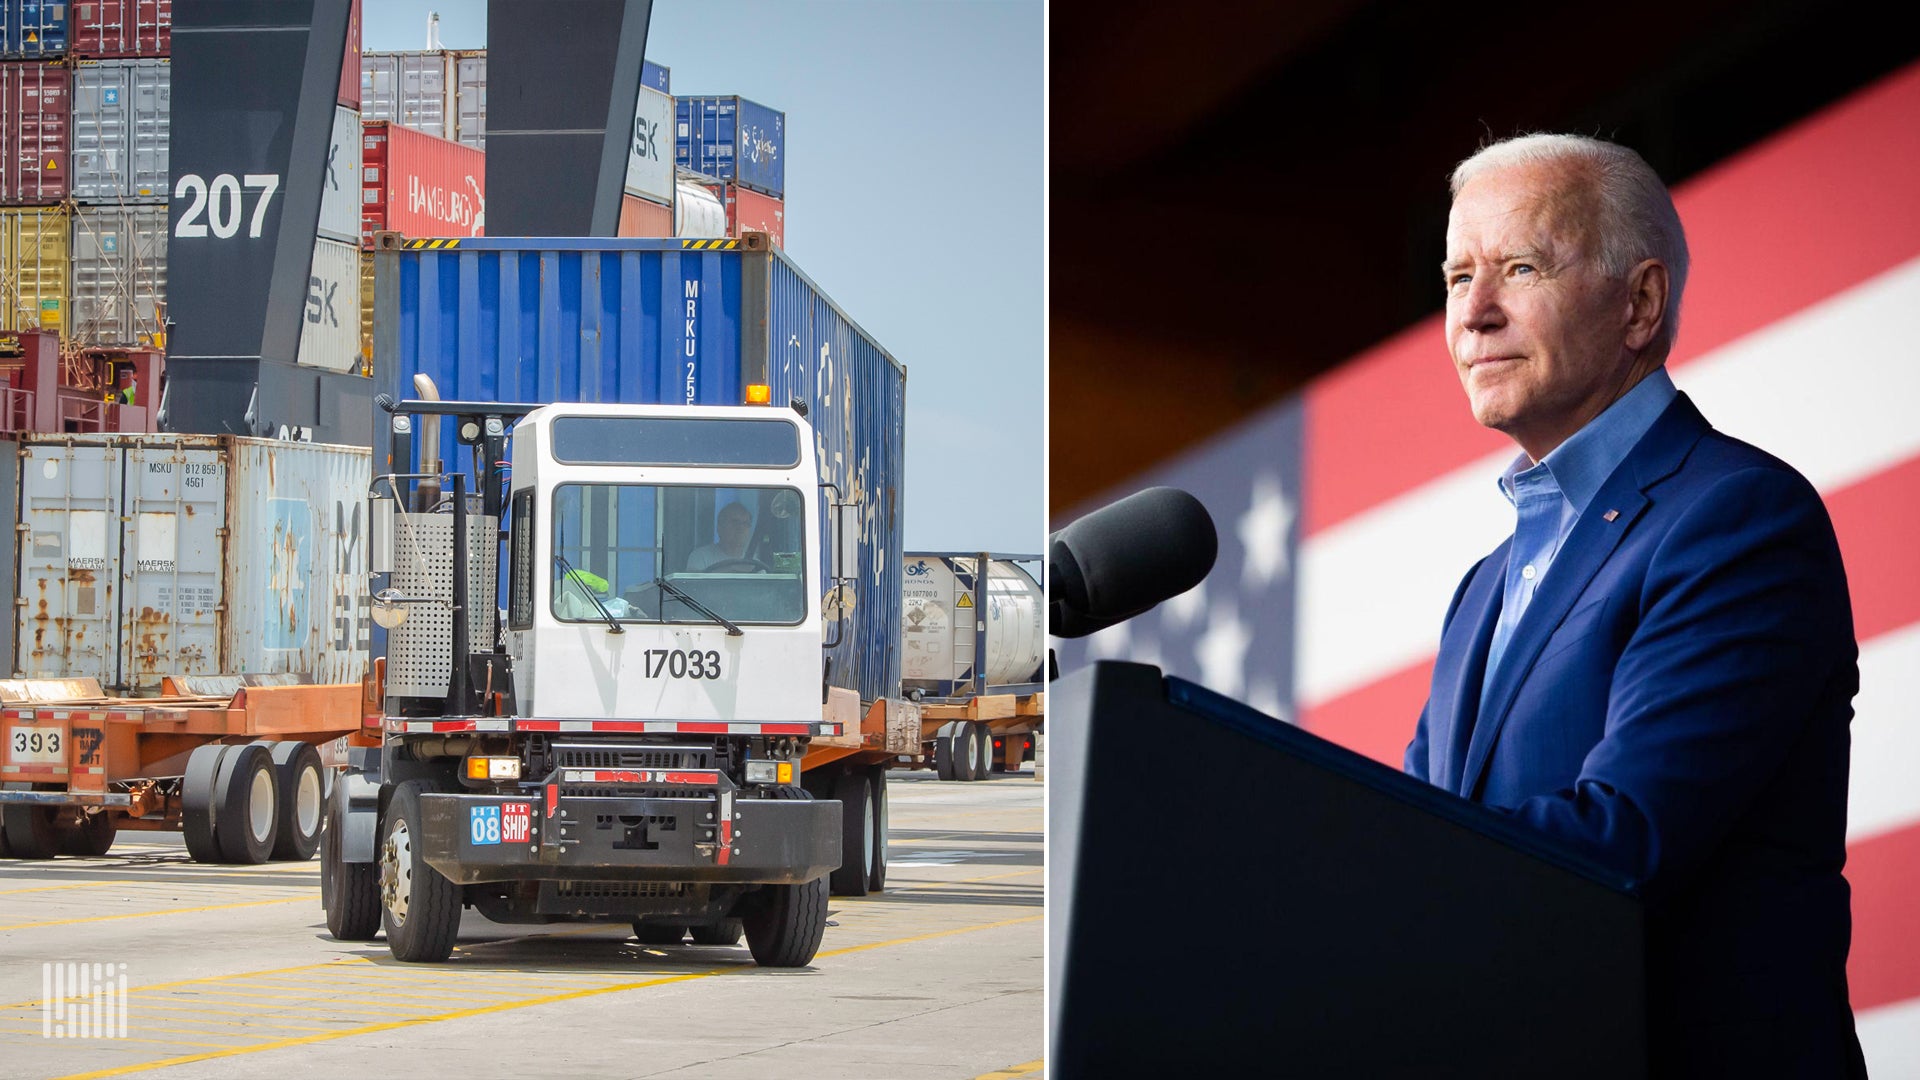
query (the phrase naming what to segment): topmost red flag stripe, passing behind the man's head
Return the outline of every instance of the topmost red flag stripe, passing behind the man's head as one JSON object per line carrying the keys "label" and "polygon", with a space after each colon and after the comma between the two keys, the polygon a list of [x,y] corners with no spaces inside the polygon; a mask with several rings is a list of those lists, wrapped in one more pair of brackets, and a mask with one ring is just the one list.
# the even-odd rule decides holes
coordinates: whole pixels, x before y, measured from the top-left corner
{"label": "topmost red flag stripe, passing behind the man's head", "polygon": [[[1920,254],[1914,115],[1920,65],[1676,188],[1693,269],[1674,367]],[[1467,415],[1438,315],[1306,402],[1304,534],[1507,446]],[[1409,434],[1417,459],[1392,452]]]}

